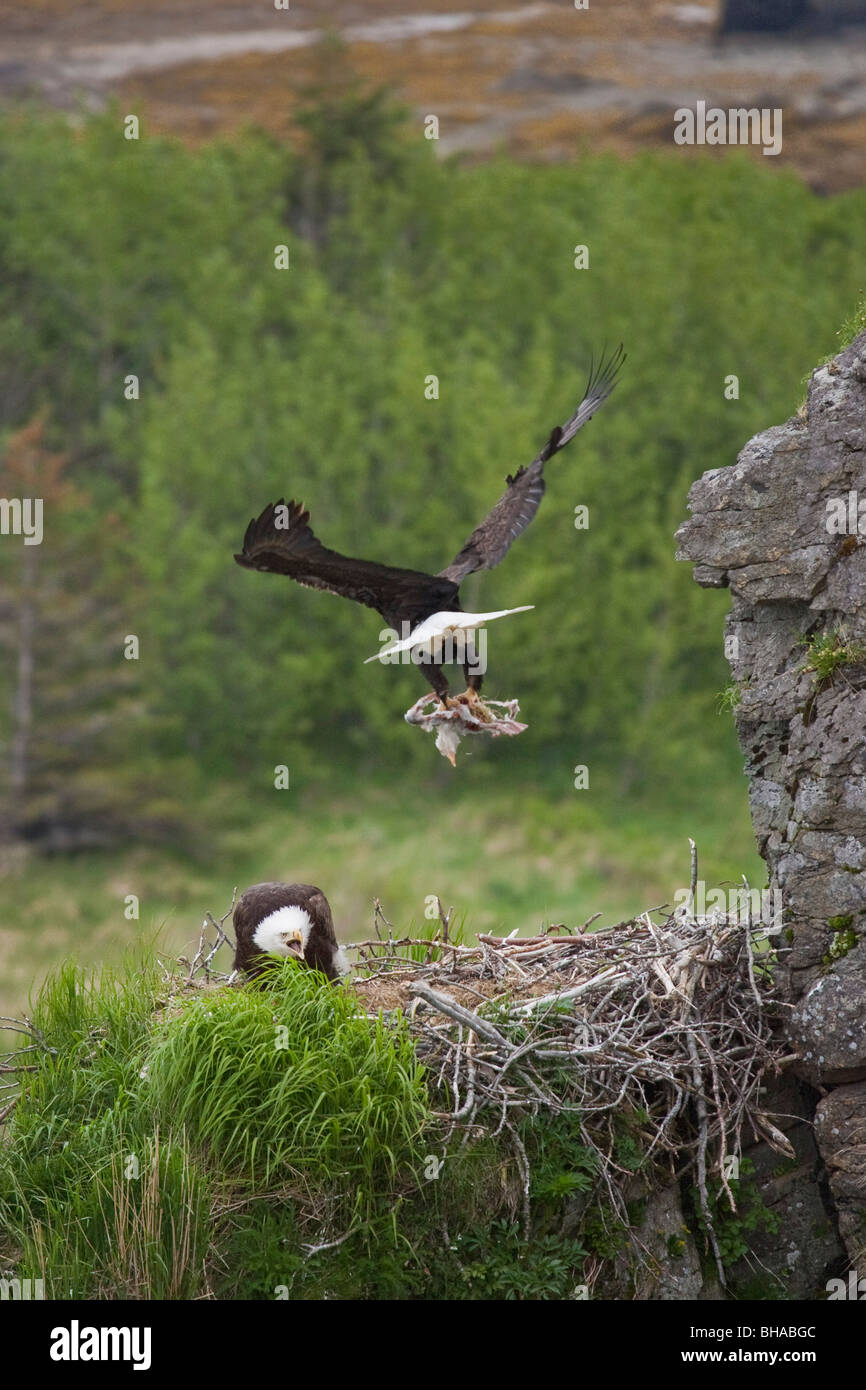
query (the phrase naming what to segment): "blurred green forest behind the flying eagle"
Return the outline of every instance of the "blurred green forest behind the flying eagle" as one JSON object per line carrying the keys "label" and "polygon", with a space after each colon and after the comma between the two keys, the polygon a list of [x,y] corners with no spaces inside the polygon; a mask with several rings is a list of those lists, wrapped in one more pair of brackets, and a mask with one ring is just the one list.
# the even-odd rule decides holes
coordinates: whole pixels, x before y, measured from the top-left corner
{"label": "blurred green forest behind the flying eagle", "polygon": [[[717,709],[727,596],[698,589],[673,534],[692,480],[796,410],[833,349],[863,286],[866,190],[820,199],[745,156],[439,161],[417,122],[354,89],[320,96],[304,128],[299,149],[256,131],[189,149],[146,121],[125,139],[118,111],[1,118],[0,492],[46,498],[42,546],[0,542],[7,848],[163,841],[228,874],[218,837],[278,817],[285,862],[250,866],[275,877],[292,817],[314,841],[350,803],[371,840],[377,806],[395,844],[400,808],[416,831],[421,817],[436,862],[466,798],[484,858],[478,808],[499,798],[518,820],[531,791],[564,826],[591,798],[610,835],[644,806],[648,844],[659,817],[724,838],[735,815],[751,856]],[[538,518],[464,585],[467,607],[535,605],[491,630],[485,684],[530,727],[453,773],[403,723],[418,673],[363,664],[377,614],[232,552],[285,495],[327,545],[441,569],[620,341],[621,382],[550,466]],[[56,923],[58,892],[50,909],[31,894],[26,920]]]}

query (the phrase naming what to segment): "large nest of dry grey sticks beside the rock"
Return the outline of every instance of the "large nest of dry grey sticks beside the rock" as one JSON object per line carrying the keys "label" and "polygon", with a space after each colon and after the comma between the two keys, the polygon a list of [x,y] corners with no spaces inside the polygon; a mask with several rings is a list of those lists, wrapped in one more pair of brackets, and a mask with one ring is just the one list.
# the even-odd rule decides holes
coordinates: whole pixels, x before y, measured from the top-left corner
{"label": "large nest of dry grey sticks beside the rock", "polygon": [[[595,1155],[595,1195],[624,1225],[635,1169],[617,1148],[621,1118],[637,1118],[641,1173],[691,1175],[721,1284],[713,1226],[737,1211],[731,1159],[746,1134],[787,1158],[794,1150],[762,1104],[784,1056],[774,1024],[770,938],[748,920],[659,908],[614,927],[549,927],[537,937],[450,938],[439,906],[434,940],[396,938],[375,903],[377,940],[357,951],[354,990],[367,1009],[400,1009],[425,1062],[443,1140],[509,1130],[530,1219],[530,1165],[514,1129],[525,1113],[573,1112]],[[414,956],[414,959],[411,959]],[[620,1123],[617,1126],[617,1116]],[[712,1184],[712,1195],[710,1195]]]}

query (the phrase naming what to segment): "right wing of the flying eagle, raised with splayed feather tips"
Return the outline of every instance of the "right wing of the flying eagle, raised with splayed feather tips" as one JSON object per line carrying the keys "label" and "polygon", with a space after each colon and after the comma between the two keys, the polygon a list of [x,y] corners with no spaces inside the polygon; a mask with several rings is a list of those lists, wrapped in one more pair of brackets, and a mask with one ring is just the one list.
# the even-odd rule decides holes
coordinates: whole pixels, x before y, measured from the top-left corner
{"label": "right wing of the flying eagle, raised with splayed feather tips", "polygon": [[496,506],[488,512],[481,525],[475,527],[448,569],[439,571],[439,578],[460,584],[473,570],[492,570],[495,564],[499,564],[512,542],[521,531],[525,531],[538,512],[545,493],[545,463],[560,449],[564,449],[577,431],[605,404],[616,386],[616,378],[624,361],[626,353],[620,345],[607,360],[602,357],[598,367],[589,367],[584,399],[574,414],[566,420],[564,425],[557,425],[553,430],[532,463],[518,468],[513,478],[507,478],[507,488]]}

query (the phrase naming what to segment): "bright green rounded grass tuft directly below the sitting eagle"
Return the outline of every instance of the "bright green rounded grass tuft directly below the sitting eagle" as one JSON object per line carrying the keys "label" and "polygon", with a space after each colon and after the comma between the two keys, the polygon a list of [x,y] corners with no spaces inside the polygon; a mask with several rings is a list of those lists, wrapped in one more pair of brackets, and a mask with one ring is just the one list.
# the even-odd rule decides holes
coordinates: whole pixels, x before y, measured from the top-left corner
{"label": "bright green rounded grass tuft directly below the sitting eagle", "polygon": [[218,1170],[252,1184],[336,1180],[367,1218],[399,1183],[428,1119],[424,1072],[402,1022],[359,1013],[295,962],[265,987],[209,992],[157,1037],[147,1094]]}

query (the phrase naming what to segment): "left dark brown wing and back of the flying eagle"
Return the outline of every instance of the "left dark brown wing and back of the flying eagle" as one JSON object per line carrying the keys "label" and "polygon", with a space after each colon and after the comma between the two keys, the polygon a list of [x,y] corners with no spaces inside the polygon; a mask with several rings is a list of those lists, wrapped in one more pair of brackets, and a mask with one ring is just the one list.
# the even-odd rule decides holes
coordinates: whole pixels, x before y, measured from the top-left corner
{"label": "left dark brown wing and back of the flying eagle", "polygon": [[235,560],[247,570],[288,574],[306,588],[354,599],[375,609],[392,627],[403,620],[414,627],[457,602],[457,587],[448,578],[329,550],[313,534],[310,513],[297,502],[270,503],[250,521]]}

